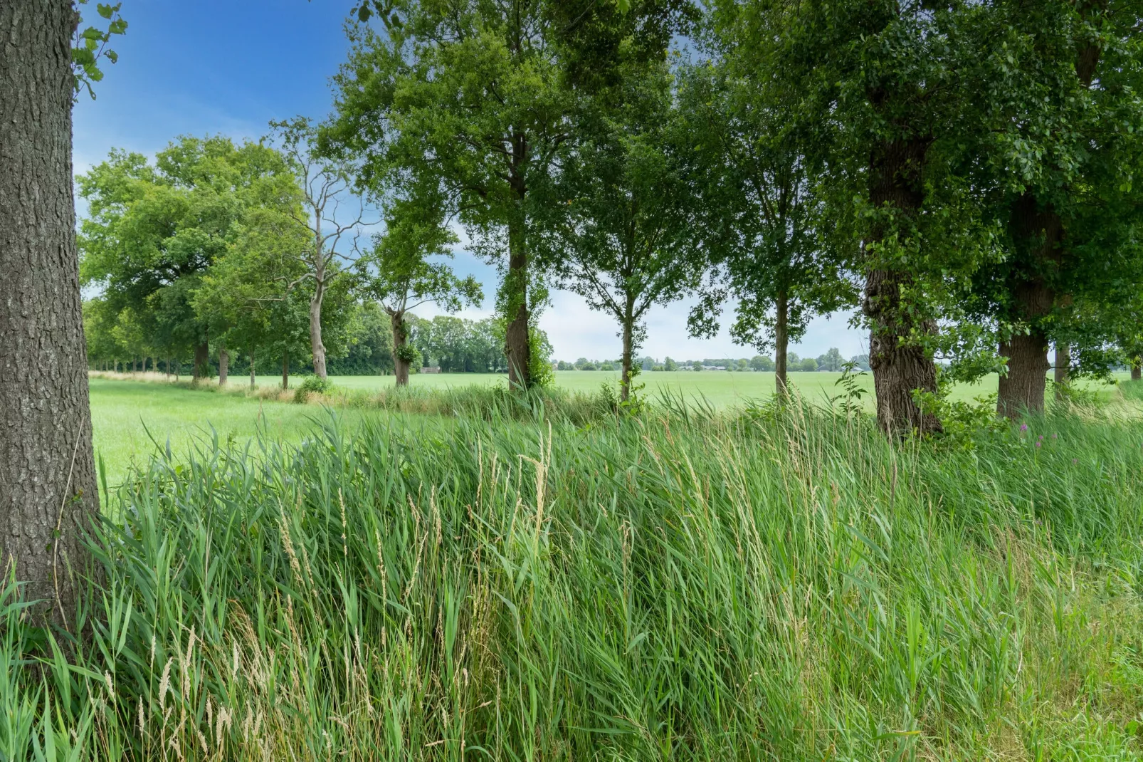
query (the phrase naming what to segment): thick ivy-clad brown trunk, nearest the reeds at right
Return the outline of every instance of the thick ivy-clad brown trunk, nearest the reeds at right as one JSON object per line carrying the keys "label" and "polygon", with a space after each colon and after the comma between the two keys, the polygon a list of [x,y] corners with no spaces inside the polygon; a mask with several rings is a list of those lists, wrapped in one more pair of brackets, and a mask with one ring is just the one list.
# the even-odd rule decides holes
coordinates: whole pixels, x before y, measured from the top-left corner
{"label": "thick ivy-clad brown trunk, nearest the reeds at right", "polygon": [[[911,217],[924,201],[921,168],[928,151],[927,140],[888,141],[873,152],[870,161],[870,200],[882,213]],[[880,222],[873,230],[870,247],[885,241],[893,227]],[[933,320],[918,319],[902,302],[902,289],[912,285],[904,270],[886,269],[876,262],[865,278],[862,309],[870,323],[869,365],[873,371],[877,395],[877,421],[892,435],[910,431],[930,434],[941,430],[941,421],[922,412],[913,391],[936,392],[936,364],[925,350],[906,338],[916,328],[933,334]]]}

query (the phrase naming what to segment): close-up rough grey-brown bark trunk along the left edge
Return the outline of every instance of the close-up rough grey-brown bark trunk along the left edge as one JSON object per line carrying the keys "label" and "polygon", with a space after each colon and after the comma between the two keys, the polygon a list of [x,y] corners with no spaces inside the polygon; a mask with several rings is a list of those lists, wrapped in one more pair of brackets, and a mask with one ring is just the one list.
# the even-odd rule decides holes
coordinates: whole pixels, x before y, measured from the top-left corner
{"label": "close-up rough grey-brown bark trunk along the left edge", "polygon": [[[67,624],[98,510],[75,207],[71,0],[0,2],[0,569]],[[74,573],[72,573],[74,572]]]}

